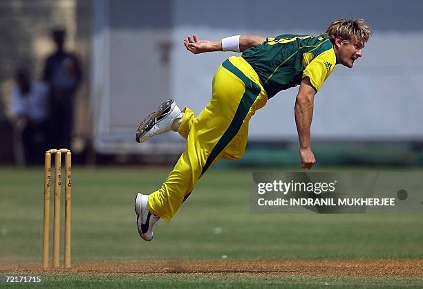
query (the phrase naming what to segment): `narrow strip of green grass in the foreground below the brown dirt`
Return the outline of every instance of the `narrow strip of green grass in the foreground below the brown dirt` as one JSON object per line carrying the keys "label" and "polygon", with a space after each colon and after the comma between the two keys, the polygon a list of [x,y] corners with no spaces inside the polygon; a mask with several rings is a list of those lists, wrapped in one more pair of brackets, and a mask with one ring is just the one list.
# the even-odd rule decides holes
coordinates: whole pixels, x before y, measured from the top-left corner
{"label": "narrow strip of green grass in the foreground below the brown dirt", "polygon": [[[46,274],[46,288],[422,288],[413,278],[263,274]],[[1,286],[0,288],[10,288]],[[34,286],[37,288],[37,286]]]}

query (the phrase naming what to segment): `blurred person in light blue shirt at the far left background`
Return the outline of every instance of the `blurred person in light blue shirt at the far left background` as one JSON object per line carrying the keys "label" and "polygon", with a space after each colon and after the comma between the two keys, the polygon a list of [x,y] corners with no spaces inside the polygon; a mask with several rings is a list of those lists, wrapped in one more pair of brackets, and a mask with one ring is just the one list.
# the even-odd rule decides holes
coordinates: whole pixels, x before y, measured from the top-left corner
{"label": "blurred person in light blue shirt at the far left background", "polygon": [[48,88],[42,82],[32,82],[23,68],[17,71],[15,81],[11,111],[17,162],[41,165],[47,145]]}

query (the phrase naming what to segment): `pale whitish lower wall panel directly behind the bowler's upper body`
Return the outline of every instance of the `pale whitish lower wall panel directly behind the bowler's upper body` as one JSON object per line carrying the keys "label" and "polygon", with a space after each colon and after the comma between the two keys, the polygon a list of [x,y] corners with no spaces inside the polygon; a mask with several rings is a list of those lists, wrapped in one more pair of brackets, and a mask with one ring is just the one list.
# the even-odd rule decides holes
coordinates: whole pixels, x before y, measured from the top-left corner
{"label": "pale whitish lower wall panel directly behind the bowler's upper body", "polygon": [[[174,41],[185,32],[219,39],[239,30],[184,26],[173,32]],[[241,33],[246,33],[241,31]],[[263,36],[277,32],[254,31]],[[305,31],[297,31],[306,34]],[[314,32],[317,34],[319,32]],[[401,39],[401,41],[397,41]],[[406,44],[406,45],[404,45]],[[423,138],[423,35],[381,32],[373,35],[354,68],[338,65],[315,98],[312,134],[330,140],[408,140]],[[212,77],[229,53],[192,55],[181,44],[173,50],[171,91],[182,105],[198,113],[209,101]],[[294,140],[294,101],[290,88],[275,95],[253,116],[250,139]]]}

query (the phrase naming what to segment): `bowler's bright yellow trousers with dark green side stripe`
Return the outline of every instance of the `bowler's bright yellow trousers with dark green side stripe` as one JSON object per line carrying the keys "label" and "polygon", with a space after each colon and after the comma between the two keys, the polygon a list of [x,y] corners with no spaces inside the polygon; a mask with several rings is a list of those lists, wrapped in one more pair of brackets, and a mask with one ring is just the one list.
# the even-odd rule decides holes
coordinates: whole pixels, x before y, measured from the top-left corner
{"label": "bowler's bright yellow trousers with dark green side stripe", "polygon": [[182,110],[178,133],[187,145],[162,187],[150,194],[150,212],[170,221],[211,165],[219,158],[241,158],[248,122],[266,102],[265,90],[250,64],[234,56],[223,62],[213,77],[212,100],[205,109],[197,117],[187,107]]}

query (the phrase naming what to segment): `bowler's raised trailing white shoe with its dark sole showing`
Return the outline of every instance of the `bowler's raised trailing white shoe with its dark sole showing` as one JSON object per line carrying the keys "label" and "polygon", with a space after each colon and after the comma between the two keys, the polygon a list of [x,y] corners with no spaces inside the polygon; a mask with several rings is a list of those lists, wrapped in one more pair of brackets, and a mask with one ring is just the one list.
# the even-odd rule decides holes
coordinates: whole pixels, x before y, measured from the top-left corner
{"label": "bowler's raised trailing white shoe with its dark sole showing", "polygon": [[156,111],[150,113],[140,123],[135,140],[145,142],[152,136],[167,133],[172,130],[172,124],[177,119],[182,119],[182,113],[174,100],[166,100],[158,106]]}

